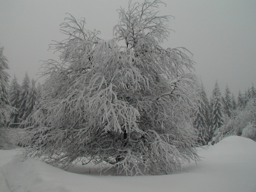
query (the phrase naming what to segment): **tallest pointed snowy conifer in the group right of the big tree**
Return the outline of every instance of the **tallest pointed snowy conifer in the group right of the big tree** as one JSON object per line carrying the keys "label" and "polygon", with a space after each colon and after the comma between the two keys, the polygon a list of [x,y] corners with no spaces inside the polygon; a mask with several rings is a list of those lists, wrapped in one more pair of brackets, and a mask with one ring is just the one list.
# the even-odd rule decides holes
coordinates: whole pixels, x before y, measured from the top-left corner
{"label": "tallest pointed snowy conifer in the group right of the big tree", "polygon": [[214,89],[212,90],[212,104],[211,104],[211,137],[214,132],[223,125],[223,106],[221,101],[221,92],[216,81]]}

